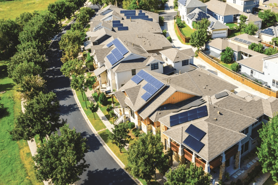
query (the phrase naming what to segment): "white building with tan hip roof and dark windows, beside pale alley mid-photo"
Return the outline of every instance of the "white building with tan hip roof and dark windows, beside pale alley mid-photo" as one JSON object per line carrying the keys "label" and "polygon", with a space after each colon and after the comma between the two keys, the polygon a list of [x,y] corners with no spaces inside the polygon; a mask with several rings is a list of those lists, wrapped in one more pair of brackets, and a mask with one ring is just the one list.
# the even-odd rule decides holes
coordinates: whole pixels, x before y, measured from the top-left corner
{"label": "white building with tan hip roof and dark windows, beside pale alley mid-photo", "polygon": [[[195,56],[192,48],[184,50],[179,50],[178,48],[170,48],[159,51],[159,53],[161,54],[162,59],[165,62],[164,67],[170,65],[172,69],[175,69],[177,72],[187,72],[196,69],[195,66],[192,66],[193,58]],[[170,70],[168,70],[168,68],[166,68],[167,72],[163,71],[163,74],[168,73],[168,71],[168,74],[170,74]],[[173,72],[175,73],[175,71],[171,71],[171,73]]]}

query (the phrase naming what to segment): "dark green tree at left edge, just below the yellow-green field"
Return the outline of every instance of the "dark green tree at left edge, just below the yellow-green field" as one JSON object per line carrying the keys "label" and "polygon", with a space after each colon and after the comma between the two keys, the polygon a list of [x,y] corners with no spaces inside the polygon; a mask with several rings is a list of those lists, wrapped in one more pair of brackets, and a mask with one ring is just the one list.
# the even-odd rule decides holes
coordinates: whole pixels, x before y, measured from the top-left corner
{"label": "dark green tree at left edge, just below the yellow-green field", "polygon": [[19,44],[19,25],[11,20],[0,19],[0,51],[11,50]]}

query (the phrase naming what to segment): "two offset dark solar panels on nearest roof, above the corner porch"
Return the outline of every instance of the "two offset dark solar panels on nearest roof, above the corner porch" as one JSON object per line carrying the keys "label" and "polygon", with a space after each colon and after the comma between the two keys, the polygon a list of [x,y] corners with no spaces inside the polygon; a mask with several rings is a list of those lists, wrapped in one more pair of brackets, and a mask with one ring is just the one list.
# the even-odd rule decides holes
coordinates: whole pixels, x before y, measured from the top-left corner
{"label": "two offset dark solar panels on nearest roof, above the corner porch", "polygon": [[207,133],[192,124],[189,125],[185,132],[189,135],[183,143],[199,153],[204,147],[204,143],[201,140]]}

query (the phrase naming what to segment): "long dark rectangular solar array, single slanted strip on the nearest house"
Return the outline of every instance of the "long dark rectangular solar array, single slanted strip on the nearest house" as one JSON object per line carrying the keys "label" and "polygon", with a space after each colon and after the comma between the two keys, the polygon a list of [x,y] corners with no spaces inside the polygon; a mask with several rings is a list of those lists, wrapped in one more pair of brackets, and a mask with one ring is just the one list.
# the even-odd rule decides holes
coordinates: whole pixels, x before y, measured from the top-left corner
{"label": "long dark rectangular solar array, single slanted strip on the nearest house", "polygon": [[205,116],[208,116],[206,105],[170,116],[170,126],[179,125]]}

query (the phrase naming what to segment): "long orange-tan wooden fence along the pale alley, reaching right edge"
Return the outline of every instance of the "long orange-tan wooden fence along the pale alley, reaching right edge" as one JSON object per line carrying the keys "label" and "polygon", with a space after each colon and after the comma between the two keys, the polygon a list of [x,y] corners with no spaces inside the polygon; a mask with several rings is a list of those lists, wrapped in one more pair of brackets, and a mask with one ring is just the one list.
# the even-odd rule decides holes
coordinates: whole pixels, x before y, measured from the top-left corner
{"label": "long orange-tan wooden fence along the pale alley, reaching right edge", "polygon": [[259,84],[259,83],[255,82],[255,81],[253,81],[249,78],[246,78],[245,76],[242,76],[242,75],[240,75],[240,74],[222,66],[217,61],[215,61],[215,60],[209,58],[207,55],[205,55],[202,51],[199,51],[199,56],[205,62],[207,62],[208,64],[210,64],[211,66],[213,66],[217,70],[223,72],[224,74],[230,76],[234,80],[237,80],[237,81],[241,82],[242,84],[245,84],[245,85],[255,89],[256,91],[259,91],[259,92],[261,92],[263,94],[266,94],[268,96],[273,96],[273,97],[276,97],[276,98],[278,97],[277,91],[274,91],[271,88],[267,88],[267,87],[263,86],[262,84]]}

